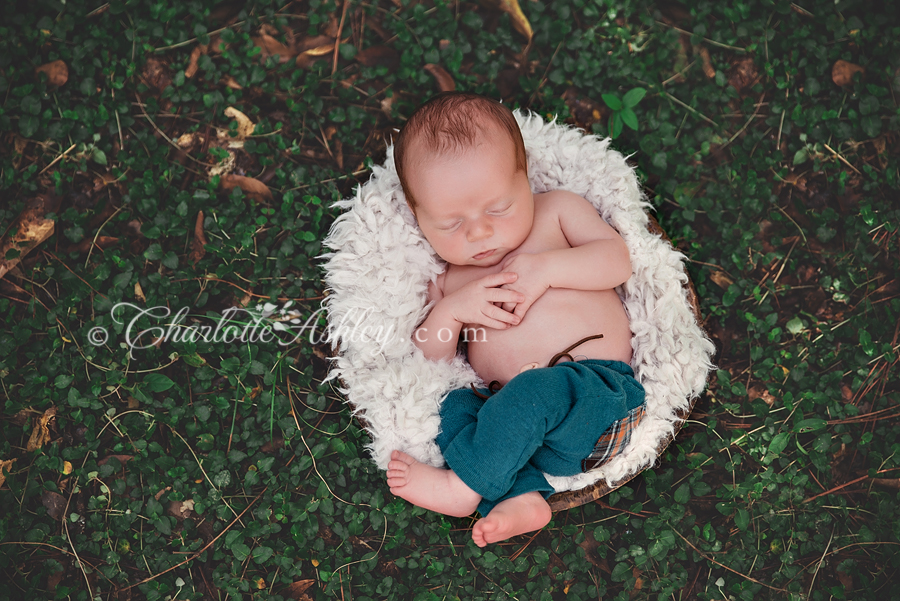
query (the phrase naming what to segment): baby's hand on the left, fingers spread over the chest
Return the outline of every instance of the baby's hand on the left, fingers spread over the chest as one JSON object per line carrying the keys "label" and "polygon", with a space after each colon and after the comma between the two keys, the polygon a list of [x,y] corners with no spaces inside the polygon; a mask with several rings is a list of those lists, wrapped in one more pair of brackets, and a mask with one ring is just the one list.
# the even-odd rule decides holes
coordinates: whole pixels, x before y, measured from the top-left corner
{"label": "baby's hand on the left, fingers spread over the chest", "polygon": [[495,273],[469,282],[453,294],[444,297],[450,315],[461,324],[474,323],[497,330],[505,330],[522,321],[521,316],[502,306],[515,306],[525,296],[515,290],[505,289],[516,281],[514,273]]}

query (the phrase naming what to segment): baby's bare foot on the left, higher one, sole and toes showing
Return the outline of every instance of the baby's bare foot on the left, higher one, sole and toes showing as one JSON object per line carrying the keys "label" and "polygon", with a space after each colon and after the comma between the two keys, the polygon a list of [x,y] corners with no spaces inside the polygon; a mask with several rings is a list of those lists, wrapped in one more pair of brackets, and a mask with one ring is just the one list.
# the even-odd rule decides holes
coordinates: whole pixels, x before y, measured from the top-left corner
{"label": "baby's bare foot on the left, higher one, sole and toes showing", "polygon": [[391,453],[388,463],[391,492],[431,511],[465,517],[472,514],[481,495],[466,486],[452,470],[420,463],[400,451]]}

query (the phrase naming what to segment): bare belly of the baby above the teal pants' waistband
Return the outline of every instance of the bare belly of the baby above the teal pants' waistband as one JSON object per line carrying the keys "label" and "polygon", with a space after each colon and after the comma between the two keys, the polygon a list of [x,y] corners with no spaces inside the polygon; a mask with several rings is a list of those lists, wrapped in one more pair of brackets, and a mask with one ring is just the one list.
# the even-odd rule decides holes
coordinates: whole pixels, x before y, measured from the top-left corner
{"label": "bare belly of the baby above the teal pants' waistband", "polygon": [[546,367],[553,355],[595,334],[603,334],[603,338],[580,344],[571,351],[576,361],[631,362],[628,318],[612,290],[551,288],[517,326],[495,330],[469,324],[467,328],[480,328],[464,331],[463,335],[469,345],[469,363],[485,384],[492,380],[506,384],[532,363]]}

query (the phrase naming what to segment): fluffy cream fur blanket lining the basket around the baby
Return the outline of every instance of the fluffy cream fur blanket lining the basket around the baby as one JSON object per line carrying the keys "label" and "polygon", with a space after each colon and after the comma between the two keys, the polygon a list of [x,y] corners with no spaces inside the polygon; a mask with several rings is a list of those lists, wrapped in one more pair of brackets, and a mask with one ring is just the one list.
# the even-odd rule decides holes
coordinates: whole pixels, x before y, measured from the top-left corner
{"label": "fluffy cream fur blanket lining the basket around the baby", "polygon": [[[647,231],[637,178],[609,140],[585,135],[536,114],[515,111],[528,154],[535,193],[566,189],[586,198],[622,235],[634,274],[618,289],[634,333],[632,367],[647,391],[647,417],[623,454],[591,472],[548,477],[562,492],[604,478],[612,484],[651,465],[659,441],[674,430],[675,411],[699,395],[714,347],[696,323],[682,283],[683,255]],[[412,343],[427,315],[428,282],[444,269],[407,207],[394,168],[393,147],[374,167],[356,196],[336,203],[346,209],[325,240],[334,252],[322,258],[329,294],[332,358],[328,379],[361,414],[372,437],[368,449],[387,469],[393,449],[434,466],[443,465],[434,442],[438,407],[451,390],[480,384],[466,361],[432,362]]]}

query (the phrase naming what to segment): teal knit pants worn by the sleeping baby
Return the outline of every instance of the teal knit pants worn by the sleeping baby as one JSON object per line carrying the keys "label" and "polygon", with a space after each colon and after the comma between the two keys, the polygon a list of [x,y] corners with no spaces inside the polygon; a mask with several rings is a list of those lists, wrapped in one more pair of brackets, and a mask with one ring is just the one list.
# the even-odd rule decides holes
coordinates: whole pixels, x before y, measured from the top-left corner
{"label": "teal knit pants worn by the sleeping baby", "polygon": [[436,442],[444,460],[481,495],[487,515],[505,499],[553,487],[542,472],[573,476],[612,423],[644,402],[644,387],[621,361],[588,359],[531,369],[487,400],[470,388],[441,405]]}

